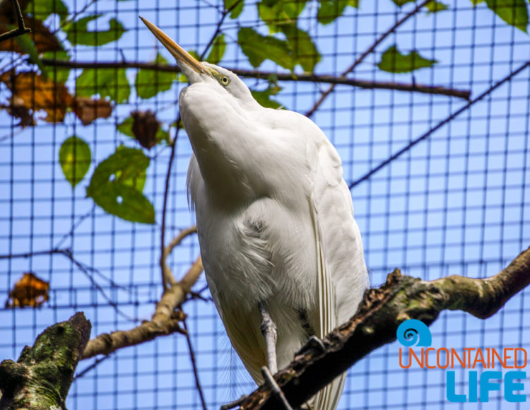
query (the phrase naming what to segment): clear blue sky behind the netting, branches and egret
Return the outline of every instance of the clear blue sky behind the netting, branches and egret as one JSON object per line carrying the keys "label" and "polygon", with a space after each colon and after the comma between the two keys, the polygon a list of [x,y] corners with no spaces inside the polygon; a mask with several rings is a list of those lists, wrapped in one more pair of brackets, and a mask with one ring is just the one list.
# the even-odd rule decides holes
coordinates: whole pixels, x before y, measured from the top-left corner
{"label": "clear blue sky behind the netting, branches and egret", "polygon": [[[204,48],[216,28],[219,1],[164,2],[112,1],[95,3],[88,13],[109,13],[129,31],[117,43],[75,49],[79,61],[151,61],[156,42],[143,28],[138,14],[150,19],[186,49]],[[446,1],[449,10],[420,13],[390,35],[355,71],[355,78],[400,81],[469,89],[472,98],[500,81],[530,56],[529,36],[506,25],[484,5],[476,10],[469,0]],[[84,2],[71,4],[72,9]],[[360,1],[331,25],[314,21],[316,2],[300,18],[300,27],[317,39],[323,59],[318,74],[334,74],[349,66],[396,18],[390,0]],[[160,10],[160,8],[162,8]],[[404,6],[404,11],[412,5]],[[105,28],[105,18],[101,19]],[[223,31],[228,49],[221,65],[249,68],[235,45],[237,28],[253,26],[255,6],[247,5],[237,22],[227,19]],[[98,24],[99,21],[98,21]],[[266,28],[259,30],[266,33]],[[403,51],[418,49],[437,59],[433,69],[411,74],[389,74],[377,69],[380,55],[390,45]],[[169,55],[164,52],[169,59]],[[264,70],[280,70],[266,61]],[[136,71],[127,72],[134,81]],[[73,80],[71,76],[70,81]],[[247,80],[249,86],[256,81]],[[73,85],[73,83],[71,83]],[[40,122],[0,142],[0,254],[49,250],[63,241],[71,226],[88,215],[61,246],[125,288],[113,288],[100,276],[105,290],[95,291],[86,274],[61,255],[28,259],[0,259],[0,292],[6,295],[25,271],[34,271],[52,283],[49,303],[39,310],[0,309],[0,358],[15,358],[25,344],[52,322],[66,320],[83,310],[93,323],[93,336],[134,324],[108,305],[106,297],[122,303],[126,315],[146,319],[160,294],[158,255],[160,213],[169,150],[155,149],[146,182],[146,196],[155,205],[157,225],[139,225],[93,209],[85,198],[88,179],[72,190],[58,163],[59,147],[68,136],[85,139],[94,164],[109,156],[119,144],[134,146],[117,133],[115,124],[130,110],[151,109],[167,123],[177,116],[179,88],[153,100],[131,94],[129,103],[117,107],[109,120],[83,127],[67,117],[64,124]],[[265,84],[259,83],[263,88]],[[291,110],[305,112],[325,85],[281,83],[277,96]],[[377,286],[386,274],[401,268],[406,274],[436,279],[449,274],[488,276],[502,269],[530,245],[530,69],[464,111],[450,124],[383,168],[353,191],[355,218],[363,235],[367,266]],[[336,145],[343,159],[344,177],[353,182],[399,151],[425,131],[435,127],[464,100],[440,95],[411,94],[389,90],[361,90],[338,86],[313,119]],[[11,132],[11,119],[0,112],[0,138]],[[191,225],[185,177],[191,148],[182,133],[170,181],[166,240]],[[154,153],[150,153],[154,156]],[[194,238],[184,241],[170,258],[179,277],[199,254]],[[205,283],[201,279],[197,288]],[[528,292],[510,300],[494,317],[483,322],[461,312],[444,312],[432,325],[437,347],[530,348],[530,328],[524,316],[529,310]],[[208,408],[253,389],[225,336],[212,303],[185,305],[188,326],[199,365]],[[526,321],[527,322],[527,321]],[[445,373],[434,370],[402,370],[399,345],[380,348],[350,370],[341,409],[522,409],[505,402],[495,392],[488,404],[449,404],[445,399]],[[90,361],[82,362],[83,370]],[[526,369],[528,370],[528,369]],[[466,372],[457,373],[466,387]],[[526,382],[525,394],[530,393]],[[173,335],[115,353],[86,373],[71,389],[69,409],[199,409],[199,397],[184,337]]]}

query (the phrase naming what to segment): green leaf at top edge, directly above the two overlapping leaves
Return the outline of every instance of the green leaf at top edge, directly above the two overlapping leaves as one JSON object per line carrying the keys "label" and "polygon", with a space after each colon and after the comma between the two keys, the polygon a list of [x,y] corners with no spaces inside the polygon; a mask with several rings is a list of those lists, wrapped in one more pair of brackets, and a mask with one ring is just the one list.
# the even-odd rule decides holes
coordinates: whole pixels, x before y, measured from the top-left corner
{"label": "green leaf at top edge, directly above the two overlapping leaves", "polygon": [[276,33],[281,25],[296,23],[306,3],[307,0],[262,0],[258,3],[259,18],[271,33]]}

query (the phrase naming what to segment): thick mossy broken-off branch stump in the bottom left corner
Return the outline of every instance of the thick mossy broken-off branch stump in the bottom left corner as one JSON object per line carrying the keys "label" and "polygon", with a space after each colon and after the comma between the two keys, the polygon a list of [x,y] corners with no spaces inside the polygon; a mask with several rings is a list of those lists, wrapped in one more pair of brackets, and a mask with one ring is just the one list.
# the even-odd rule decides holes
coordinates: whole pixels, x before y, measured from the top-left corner
{"label": "thick mossy broken-off branch stump in the bottom left corner", "polygon": [[48,327],[18,361],[0,363],[0,409],[66,409],[66,395],[90,338],[83,313]]}

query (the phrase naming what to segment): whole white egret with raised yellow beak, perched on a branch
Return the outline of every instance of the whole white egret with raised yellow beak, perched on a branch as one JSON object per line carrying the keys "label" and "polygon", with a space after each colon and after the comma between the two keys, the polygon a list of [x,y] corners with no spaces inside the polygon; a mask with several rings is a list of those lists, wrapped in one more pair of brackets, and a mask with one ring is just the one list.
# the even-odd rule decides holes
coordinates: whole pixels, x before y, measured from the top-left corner
{"label": "whole white egret with raised yellow beak, perched on a branch", "polygon": [[[192,84],[179,107],[204,271],[232,346],[261,383],[266,366],[276,373],[311,336],[346,322],[368,286],[341,159],[310,119],[261,107],[231,71],[142,21]],[[307,406],[335,409],[345,377]]]}

